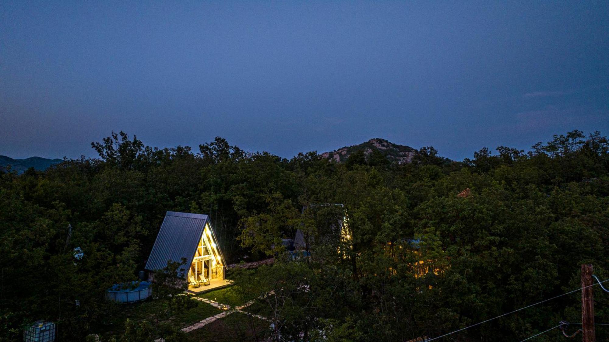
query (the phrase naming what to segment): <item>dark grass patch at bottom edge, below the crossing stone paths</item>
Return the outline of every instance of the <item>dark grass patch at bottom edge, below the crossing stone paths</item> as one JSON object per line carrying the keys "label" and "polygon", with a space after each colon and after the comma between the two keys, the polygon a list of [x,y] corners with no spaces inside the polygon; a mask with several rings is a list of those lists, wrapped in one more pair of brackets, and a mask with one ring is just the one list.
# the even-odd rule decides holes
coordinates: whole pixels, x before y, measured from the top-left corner
{"label": "dark grass patch at bottom edge, below the crossing stone paths", "polygon": [[188,341],[264,341],[269,333],[269,322],[245,313],[234,312],[222,319],[217,319],[201,329],[186,334]]}

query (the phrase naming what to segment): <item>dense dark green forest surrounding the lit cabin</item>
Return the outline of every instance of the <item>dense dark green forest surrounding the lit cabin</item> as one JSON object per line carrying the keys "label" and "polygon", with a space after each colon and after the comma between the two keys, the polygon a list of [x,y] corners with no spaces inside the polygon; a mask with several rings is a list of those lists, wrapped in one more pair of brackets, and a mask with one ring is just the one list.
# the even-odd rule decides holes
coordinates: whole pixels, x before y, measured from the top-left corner
{"label": "dense dark green forest surrounding the lit cabin", "polygon": [[[161,149],[122,131],[91,145],[99,158],[0,172],[0,341],[37,319],[57,323],[62,341],[104,330],[116,310],[105,289],[136,280],[166,211],[209,215],[229,263],[275,257],[255,284],[289,299],[275,312],[287,340],[435,337],[579,288],[582,263],[609,277],[599,132],[461,162],[423,147],[407,164],[380,152],[285,159],[222,138]],[[340,212],[312,210],[327,203]],[[343,213],[348,242],[332,229]],[[317,243],[293,260],[281,241],[299,228]],[[609,318],[609,297],[595,299]],[[579,312],[574,293],[450,338],[519,340]]]}

